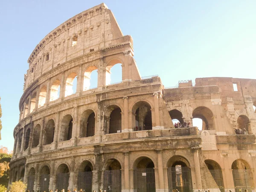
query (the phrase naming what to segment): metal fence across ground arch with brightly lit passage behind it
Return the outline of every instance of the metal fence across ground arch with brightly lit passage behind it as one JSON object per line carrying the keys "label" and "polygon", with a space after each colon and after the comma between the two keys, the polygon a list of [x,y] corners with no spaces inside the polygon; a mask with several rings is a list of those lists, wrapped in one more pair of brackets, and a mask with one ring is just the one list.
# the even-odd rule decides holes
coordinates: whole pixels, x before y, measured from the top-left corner
{"label": "metal fence across ground arch with brightly lit passage behind it", "polygon": [[169,192],[178,189],[179,192],[192,192],[192,177],[189,167],[169,167],[167,170]]}

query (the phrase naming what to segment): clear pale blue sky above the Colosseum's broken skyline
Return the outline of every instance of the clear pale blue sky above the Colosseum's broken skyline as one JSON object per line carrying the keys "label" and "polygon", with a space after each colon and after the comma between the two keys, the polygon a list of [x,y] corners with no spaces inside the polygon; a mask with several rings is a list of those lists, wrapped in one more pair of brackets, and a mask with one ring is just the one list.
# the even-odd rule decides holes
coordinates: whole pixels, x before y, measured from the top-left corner
{"label": "clear pale blue sky above the Colosseum's broken skyline", "polygon": [[[13,149],[27,59],[55,27],[102,0],[1,0],[2,140]],[[255,0],[105,0],[124,35],[134,39],[141,76],[179,80],[227,76],[255,79]]]}

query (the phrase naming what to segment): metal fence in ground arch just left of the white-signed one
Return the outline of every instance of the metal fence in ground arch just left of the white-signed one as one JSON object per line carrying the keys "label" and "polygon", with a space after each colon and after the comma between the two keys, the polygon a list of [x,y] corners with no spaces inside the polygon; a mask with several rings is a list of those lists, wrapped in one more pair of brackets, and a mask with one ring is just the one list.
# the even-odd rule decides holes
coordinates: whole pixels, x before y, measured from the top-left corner
{"label": "metal fence in ground arch just left of the white-signed one", "polygon": [[121,170],[106,170],[103,173],[103,189],[107,192],[121,192]]}

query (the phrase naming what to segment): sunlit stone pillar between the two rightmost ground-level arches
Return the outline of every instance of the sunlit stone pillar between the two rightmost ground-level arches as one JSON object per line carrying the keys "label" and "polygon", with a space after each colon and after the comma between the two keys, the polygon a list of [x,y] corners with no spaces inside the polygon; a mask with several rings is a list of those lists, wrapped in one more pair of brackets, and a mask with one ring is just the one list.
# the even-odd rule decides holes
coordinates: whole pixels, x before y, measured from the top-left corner
{"label": "sunlit stone pillar between the two rightmost ground-level arches", "polygon": [[223,157],[224,172],[225,172],[225,175],[223,175],[223,179],[226,180],[227,189],[231,191],[235,191],[233,173],[232,173],[231,165],[229,165],[229,160],[228,160],[229,154],[222,153],[222,157]]}

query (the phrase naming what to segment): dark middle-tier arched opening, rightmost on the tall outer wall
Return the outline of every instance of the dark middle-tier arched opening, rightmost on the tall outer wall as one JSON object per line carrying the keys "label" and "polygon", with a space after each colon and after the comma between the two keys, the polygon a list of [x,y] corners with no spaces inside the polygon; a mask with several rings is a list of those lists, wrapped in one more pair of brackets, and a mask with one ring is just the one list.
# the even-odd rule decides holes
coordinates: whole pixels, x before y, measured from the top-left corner
{"label": "dark middle-tier arched opening, rightmost on the tall outer wall", "polygon": [[151,107],[147,102],[137,102],[132,108],[134,131],[152,130]]}

